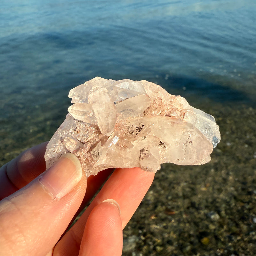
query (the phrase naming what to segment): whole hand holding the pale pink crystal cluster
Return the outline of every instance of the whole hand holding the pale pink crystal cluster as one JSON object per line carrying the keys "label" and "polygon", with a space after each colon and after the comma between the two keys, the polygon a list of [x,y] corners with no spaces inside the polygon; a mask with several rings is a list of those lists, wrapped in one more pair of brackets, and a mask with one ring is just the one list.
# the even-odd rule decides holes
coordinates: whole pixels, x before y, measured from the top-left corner
{"label": "whole hand holding the pale pink crystal cluster", "polygon": [[113,171],[108,169],[86,179],[70,153],[44,172],[46,144],[28,149],[0,168],[0,255],[121,255],[122,229],[154,173],[116,169],[108,178]]}

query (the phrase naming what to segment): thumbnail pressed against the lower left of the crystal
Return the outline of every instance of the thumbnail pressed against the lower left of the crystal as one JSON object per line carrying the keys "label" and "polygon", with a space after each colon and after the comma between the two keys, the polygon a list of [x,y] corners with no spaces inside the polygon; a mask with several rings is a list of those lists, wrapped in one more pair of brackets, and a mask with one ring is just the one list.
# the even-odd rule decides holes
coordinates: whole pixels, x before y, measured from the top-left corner
{"label": "thumbnail pressed against the lower left of the crystal", "polygon": [[53,198],[62,198],[76,186],[81,178],[82,167],[79,160],[75,155],[67,153],[43,173],[39,182]]}

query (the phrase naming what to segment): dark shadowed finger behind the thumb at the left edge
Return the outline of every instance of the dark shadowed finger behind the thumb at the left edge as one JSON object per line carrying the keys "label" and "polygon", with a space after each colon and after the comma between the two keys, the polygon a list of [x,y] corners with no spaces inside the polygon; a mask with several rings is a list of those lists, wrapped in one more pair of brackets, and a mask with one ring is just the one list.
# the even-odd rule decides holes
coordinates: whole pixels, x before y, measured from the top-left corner
{"label": "dark shadowed finger behind the thumb at the left edge", "polygon": [[23,188],[45,171],[47,143],[29,148],[0,168],[0,200]]}

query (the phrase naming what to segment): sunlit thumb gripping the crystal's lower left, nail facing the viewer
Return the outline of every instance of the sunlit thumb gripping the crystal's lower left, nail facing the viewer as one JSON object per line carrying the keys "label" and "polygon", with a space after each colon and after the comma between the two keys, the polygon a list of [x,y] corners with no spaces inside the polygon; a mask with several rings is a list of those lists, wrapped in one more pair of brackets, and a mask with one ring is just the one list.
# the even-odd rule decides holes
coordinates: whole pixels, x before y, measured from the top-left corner
{"label": "sunlit thumb gripping the crystal's lower left, nail facing the viewer", "polygon": [[84,198],[86,176],[71,153],[0,201],[0,255],[46,255]]}

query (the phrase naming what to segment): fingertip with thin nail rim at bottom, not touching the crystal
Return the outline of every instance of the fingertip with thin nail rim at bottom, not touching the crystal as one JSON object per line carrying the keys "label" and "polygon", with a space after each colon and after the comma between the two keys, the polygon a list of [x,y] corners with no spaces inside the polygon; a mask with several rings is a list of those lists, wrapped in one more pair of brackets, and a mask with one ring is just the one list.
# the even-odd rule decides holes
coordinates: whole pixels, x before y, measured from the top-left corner
{"label": "fingertip with thin nail rim at bottom, not touching the crystal", "polygon": [[84,228],[79,256],[121,256],[122,220],[119,205],[113,199],[93,208]]}

